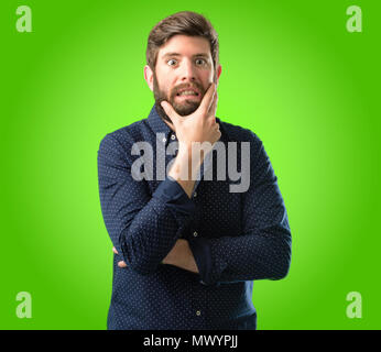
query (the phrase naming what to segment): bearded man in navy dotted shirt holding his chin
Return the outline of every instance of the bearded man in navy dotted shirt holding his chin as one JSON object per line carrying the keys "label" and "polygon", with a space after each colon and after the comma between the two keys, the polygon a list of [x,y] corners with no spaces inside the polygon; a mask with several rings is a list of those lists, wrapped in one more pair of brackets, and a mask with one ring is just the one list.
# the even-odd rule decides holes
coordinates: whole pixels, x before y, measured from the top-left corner
{"label": "bearded man in navy dotted shirt holding his chin", "polygon": [[[253,280],[285,277],[291,261],[276,176],[254,133],[215,116],[221,66],[208,20],[185,11],[157,23],[146,62],[150,116],[107,134],[98,151],[115,246],[108,329],[257,329]],[[193,148],[197,142],[206,147]],[[217,144],[228,163],[207,166]],[[241,191],[231,191],[235,177],[205,177],[235,175],[231,155],[246,178]]]}

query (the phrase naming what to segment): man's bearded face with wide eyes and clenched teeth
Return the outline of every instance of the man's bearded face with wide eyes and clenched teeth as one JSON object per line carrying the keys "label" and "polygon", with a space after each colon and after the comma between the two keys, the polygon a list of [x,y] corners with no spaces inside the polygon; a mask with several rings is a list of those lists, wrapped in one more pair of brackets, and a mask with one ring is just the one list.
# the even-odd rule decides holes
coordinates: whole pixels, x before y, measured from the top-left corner
{"label": "man's bearded face with wide eyes and clenched teeth", "polygon": [[153,73],[153,94],[159,113],[168,119],[160,105],[163,100],[168,101],[179,116],[193,113],[217,78],[206,38],[187,35],[171,37],[160,48]]}

